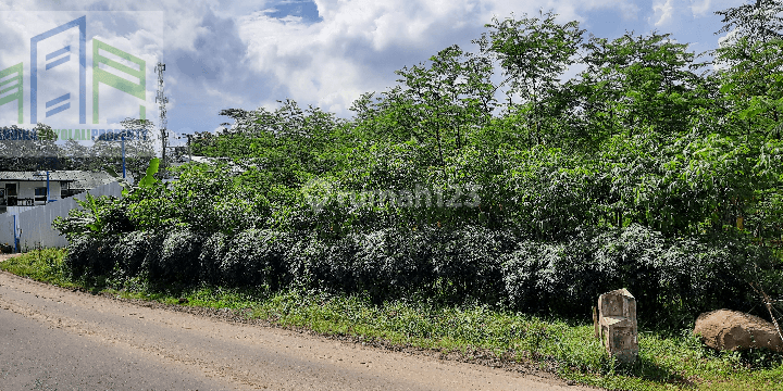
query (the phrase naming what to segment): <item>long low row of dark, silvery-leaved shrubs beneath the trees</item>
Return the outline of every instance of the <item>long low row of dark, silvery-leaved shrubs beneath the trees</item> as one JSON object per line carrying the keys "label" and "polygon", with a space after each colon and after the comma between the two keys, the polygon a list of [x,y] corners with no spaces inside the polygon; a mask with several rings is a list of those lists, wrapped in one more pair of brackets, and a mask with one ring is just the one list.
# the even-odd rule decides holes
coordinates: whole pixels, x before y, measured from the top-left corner
{"label": "long low row of dark, silvery-leaved shrubs beneath the trees", "polygon": [[296,285],[362,292],[376,301],[425,292],[561,315],[587,315],[598,294],[626,287],[637,299],[641,318],[666,326],[686,325],[704,311],[753,308],[757,298],[747,280],[756,276],[772,279],[767,286],[783,286],[775,285],[781,265],[765,249],[730,236],[666,239],[638,225],[581,230],[561,242],[475,226],[389,228],[337,239],[264,229],[229,237],[175,228],[77,238],[66,264],[77,276],[272,290]]}

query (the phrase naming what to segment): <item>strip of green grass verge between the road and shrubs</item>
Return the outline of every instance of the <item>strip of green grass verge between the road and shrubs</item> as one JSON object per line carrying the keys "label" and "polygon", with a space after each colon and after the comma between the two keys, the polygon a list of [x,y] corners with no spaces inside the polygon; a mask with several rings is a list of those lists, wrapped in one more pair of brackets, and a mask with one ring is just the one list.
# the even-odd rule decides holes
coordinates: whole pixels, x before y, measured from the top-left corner
{"label": "strip of green grass verge between the road and shrubs", "polygon": [[248,316],[285,327],[332,336],[459,352],[490,352],[504,360],[538,363],[566,379],[618,390],[780,390],[783,354],[714,352],[691,336],[639,332],[639,360],[621,366],[593,338],[591,323],[540,318],[485,305],[439,305],[426,299],[381,305],[359,295],[290,290],[167,287],[139,279],[74,280],[63,266],[64,251],[42,250],[10,258],[0,268],[62,287],[80,287],[124,298],[212,308],[247,310]]}

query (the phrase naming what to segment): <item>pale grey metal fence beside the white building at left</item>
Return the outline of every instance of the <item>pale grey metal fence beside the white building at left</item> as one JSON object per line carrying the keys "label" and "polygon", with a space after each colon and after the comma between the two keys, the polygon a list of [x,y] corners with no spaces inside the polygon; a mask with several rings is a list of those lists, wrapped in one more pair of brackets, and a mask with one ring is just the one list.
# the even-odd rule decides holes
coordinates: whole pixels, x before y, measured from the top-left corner
{"label": "pale grey metal fence beside the white building at left", "polygon": [[[111,182],[87,191],[92,197],[113,195],[122,197],[122,187],[117,182]],[[8,243],[14,247],[17,240],[17,249],[25,251],[35,248],[63,248],[67,245],[64,236],[52,228],[52,222],[58,216],[67,216],[72,209],[82,209],[76,199],[85,200],[86,193],[79,193],[60,201],[51,202],[42,206],[34,207],[14,214],[0,214],[0,244]],[[15,230],[15,232],[14,232]]]}

